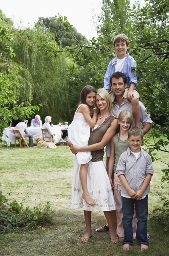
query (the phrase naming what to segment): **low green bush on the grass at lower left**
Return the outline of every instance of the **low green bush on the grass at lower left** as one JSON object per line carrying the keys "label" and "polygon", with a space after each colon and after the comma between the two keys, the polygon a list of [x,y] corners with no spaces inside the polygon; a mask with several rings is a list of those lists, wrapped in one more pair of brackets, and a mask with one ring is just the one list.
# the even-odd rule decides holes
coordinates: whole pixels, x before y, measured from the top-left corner
{"label": "low green bush on the grass at lower left", "polygon": [[23,204],[16,200],[8,202],[8,198],[0,195],[0,232],[19,232],[31,227],[38,227],[52,222],[54,210],[50,200],[44,207],[23,209]]}

